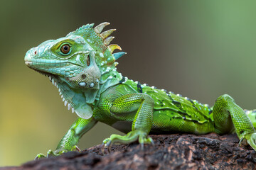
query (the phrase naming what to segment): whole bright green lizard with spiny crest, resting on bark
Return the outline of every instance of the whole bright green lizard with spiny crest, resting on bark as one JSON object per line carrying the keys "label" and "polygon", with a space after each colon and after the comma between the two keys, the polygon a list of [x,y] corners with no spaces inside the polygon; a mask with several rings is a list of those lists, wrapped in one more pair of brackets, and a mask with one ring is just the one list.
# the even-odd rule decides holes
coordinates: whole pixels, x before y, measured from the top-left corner
{"label": "whole bright green lizard with spiny crest, resting on bark", "polygon": [[[227,94],[220,96],[212,108],[179,94],[132,81],[117,72],[116,60],[125,52],[119,45],[109,45],[115,29],[93,28],[87,24],[64,38],[47,40],[26,52],[26,65],[49,77],[58,88],[65,106],[79,118],[48,151],[57,156],[78,149],[78,141],[98,121],[127,133],[111,135],[103,141],[110,149],[114,143],[153,144],[150,134],[189,132],[225,134],[236,132],[240,144],[256,150],[256,111],[244,111]],[[46,157],[38,154],[37,158]]]}

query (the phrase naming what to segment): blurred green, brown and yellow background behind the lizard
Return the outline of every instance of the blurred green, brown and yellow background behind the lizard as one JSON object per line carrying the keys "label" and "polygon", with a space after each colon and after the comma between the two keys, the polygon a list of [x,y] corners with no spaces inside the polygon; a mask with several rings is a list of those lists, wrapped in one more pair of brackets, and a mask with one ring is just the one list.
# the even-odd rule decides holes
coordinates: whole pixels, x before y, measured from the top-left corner
{"label": "blurred green, brown and yellow background behind the lizard", "polygon": [[[76,118],[48,78],[28,69],[26,51],[86,23],[112,23],[127,52],[129,79],[213,105],[230,94],[256,108],[256,1],[1,1],[0,166],[55,149]],[[116,130],[98,123],[85,149]]]}

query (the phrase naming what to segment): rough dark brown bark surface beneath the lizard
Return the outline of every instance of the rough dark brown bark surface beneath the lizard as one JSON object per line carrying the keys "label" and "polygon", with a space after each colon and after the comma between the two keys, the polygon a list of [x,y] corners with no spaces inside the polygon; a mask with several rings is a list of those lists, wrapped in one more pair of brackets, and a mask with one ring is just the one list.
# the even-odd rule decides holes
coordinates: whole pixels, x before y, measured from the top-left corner
{"label": "rough dark brown bark surface beneath the lizard", "polygon": [[[103,155],[100,145],[60,157],[2,169],[256,169],[256,152],[238,147],[236,135],[151,135],[155,146],[113,145]],[[107,149],[105,149],[107,152]]]}

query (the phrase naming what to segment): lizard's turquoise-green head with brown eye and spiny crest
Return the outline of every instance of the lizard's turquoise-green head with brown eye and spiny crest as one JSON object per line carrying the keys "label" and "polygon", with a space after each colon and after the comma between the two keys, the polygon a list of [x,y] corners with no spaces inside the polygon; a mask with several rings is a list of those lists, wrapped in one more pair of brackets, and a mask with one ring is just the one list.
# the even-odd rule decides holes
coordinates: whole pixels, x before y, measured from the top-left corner
{"label": "lizard's turquoise-green head with brown eye and spiny crest", "polygon": [[95,28],[94,24],[87,24],[63,38],[47,40],[26,52],[26,65],[49,77],[69,108],[78,105],[74,100],[81,100],[82,96],[78,97],[81,93],[86,103],[93,103],[100,84],[111,77],[110,72],[117,65],[115,60],[125,54],[112,53],[121,47],[109,45],[114,38],[109,35],[115,29],[102,32],[109,24],[101,23]]}

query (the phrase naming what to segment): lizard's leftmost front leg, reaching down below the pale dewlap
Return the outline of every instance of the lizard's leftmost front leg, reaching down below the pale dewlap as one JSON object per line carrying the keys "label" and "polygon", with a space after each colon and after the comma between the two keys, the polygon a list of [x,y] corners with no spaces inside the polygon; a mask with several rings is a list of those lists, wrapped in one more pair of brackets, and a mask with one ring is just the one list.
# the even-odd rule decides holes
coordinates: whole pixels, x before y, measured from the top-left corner
{"label": "lizard's leftmost front leg, reaching down below the pale dewlap", "polygon": [[77,120],[75,120],[73,125],[71,125],[68,132],[60,140],[55,151],[49,150],[47,152],[47,156],[45,156],[44,154],[38,154],[36,156],[36,159],[42,158],[42,157],[49,157],[49,156],[58,156],[60,154],[73,151],[73,150],[80,151],[80,149],[77,146],[78,141],[80,140],[82,135],[84,135],[85,132],[90,130],[96,123],[97,121],[94,118],[90,118],[90,119],[78,118]]}

